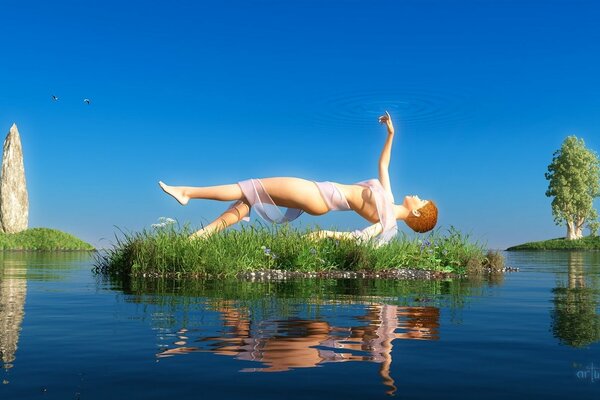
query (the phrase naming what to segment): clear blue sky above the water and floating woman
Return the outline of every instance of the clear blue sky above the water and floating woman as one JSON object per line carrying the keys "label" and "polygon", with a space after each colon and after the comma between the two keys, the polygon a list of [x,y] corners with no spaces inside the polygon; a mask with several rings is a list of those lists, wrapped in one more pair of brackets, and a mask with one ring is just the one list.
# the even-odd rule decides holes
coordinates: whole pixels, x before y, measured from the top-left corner
{"label": "clear blue sky above the water and floating woman", "polygon": [[599,20],[577,0],[4,0],[0,128],[21,132],[30,226],[106,247],[226,206],[159,179],[376,177],[388,110],[396,198],[504,248],[564,234],[544,195],[562,140],[600,150]]}

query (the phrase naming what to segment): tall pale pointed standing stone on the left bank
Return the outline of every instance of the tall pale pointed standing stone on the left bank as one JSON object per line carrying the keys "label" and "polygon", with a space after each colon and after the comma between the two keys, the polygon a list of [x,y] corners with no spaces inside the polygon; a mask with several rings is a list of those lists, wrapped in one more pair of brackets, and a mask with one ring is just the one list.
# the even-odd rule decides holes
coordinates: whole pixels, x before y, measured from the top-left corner
{"label": "tall pale pointed standing stone on the left bank", "polygon": [[17,125],[13,124],[4,141],[0,175],[0,228],[6,233],[27,229],[29,199],[23,165],[23,148]]}

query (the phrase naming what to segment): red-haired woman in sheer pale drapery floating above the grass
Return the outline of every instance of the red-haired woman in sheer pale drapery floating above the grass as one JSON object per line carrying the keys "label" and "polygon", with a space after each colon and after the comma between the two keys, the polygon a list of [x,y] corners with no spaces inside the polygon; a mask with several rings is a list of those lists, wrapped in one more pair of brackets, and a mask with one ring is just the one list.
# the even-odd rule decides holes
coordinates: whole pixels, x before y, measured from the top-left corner
{"label": "red-haired woman in sheer pale drapery floating above the grass", "polygon": [[[319,231],[313,234],[314,237],[369,239],[380,235],[379,240],[387,242],[397,232],[396,220],[403,220],[417,232],[427,232],[437,222],[437,208],[433,201],[406,196],[402,204],[394,204],[388,174],[394,126],[387,112],[379,117],[379,122],[385,124],[388,131],[379,159],[379,179],[352,185],[290,177],[249,179],[237,184],[208,187],[159,184],[182,205],[186,205],[190,199],[235,201],[227,211],[193,237],[204,237],[246,219],[251,208],[267,221],[275,223],[294,220],[303,212],[322,215],[331,210],[353,210],[373,223],[362,231]],[[277,206],[288,209],[283,214]]]}

